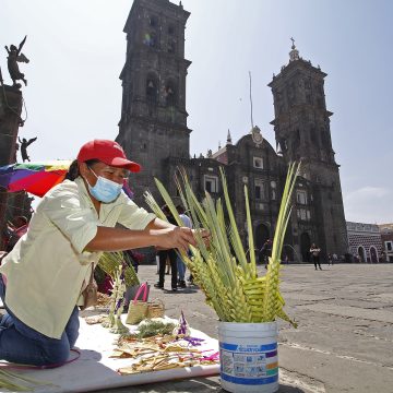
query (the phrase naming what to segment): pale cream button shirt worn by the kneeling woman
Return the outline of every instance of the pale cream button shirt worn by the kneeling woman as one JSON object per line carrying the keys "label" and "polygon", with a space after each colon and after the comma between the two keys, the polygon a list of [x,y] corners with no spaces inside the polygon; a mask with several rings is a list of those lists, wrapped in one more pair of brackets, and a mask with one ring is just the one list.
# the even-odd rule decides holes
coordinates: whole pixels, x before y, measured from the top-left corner
{"label": "pale cream button shirt worn by the kneeling woman", "polygon": [[84,251],[97,227],[119,223],[144,229],[155,217],[123,192],[115,202],[102,203],[98,216],[82,178],[64,180],[44,196],[27,233],[2,261],[5,305],[26,325],[60,338],[91,263],[102,255]]}

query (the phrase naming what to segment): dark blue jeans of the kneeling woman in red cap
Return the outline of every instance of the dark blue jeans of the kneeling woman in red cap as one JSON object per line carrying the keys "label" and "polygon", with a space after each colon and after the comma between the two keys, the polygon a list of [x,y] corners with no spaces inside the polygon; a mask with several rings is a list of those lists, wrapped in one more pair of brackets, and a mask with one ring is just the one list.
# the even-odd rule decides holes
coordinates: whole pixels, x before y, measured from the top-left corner
{"label": "dark blue jeans of the kneeling woman in red cap", "polygon": [[0,320],[0,359],[34,366],[61,365],[79,336],[78,307],[71,313],[60,340],[48,337],[20,321],[4,302],[5,286],[0,274],[0,297],[7,313]]}

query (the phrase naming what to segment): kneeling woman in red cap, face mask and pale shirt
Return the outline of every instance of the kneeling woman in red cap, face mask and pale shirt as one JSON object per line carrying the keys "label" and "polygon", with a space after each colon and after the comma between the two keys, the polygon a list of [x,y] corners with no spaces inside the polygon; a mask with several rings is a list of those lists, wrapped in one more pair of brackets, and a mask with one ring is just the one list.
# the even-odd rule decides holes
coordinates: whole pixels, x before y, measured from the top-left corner
{"label": "kneeling woman in red cap, face mask and pale shirt", "polygon": [[36,366],[68,359],[79,334],[79,299],[102,251],[186,251],[195,245],[191,229],[158,219],[121,191],[129,171],[139,170],[119,144],[95,140],[81,147],[67,180],[40,201],[27,234],[0,267],[7,310],[0,359]]}

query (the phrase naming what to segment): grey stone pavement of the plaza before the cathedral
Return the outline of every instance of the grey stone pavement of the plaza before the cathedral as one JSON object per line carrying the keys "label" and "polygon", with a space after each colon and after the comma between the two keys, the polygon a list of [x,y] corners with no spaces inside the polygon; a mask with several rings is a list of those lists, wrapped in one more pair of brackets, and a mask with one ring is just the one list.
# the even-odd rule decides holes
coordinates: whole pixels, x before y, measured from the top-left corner
{"label": "grey stone pavement of the plaza before the cathedral", "polygon": [[[156,267],[141,266],[140,277],[154,284]],[[393,393],[392,277],[393,264],[284,266],[286,312],[299,326],[279,322],[281,393]],[[183,310],[192,327],[217,337],[217,318],[198,287],[171,293],[152,285],[151,299],[157,297],[167,315],[178,318]],[[218,376],[105,392],[213,391],[224,392]]]}

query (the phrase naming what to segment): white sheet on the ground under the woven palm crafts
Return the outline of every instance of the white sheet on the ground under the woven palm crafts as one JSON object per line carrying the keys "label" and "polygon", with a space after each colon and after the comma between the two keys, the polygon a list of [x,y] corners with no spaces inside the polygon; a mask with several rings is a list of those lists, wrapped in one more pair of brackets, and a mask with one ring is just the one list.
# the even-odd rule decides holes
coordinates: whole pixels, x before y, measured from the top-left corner
{"label": "white sheet on the ground under the woven palm crafts", "polygon": [[[174,322],[176,321],[174,320]],[[132,329],[135,327],[131,326]],[[218,352],[216,340],[192,329],[191,335],[205,340],[201,346],[202,349]],[[76,342],[81,357],[78,360],[56,369],[14,370],[10,368],[10,371],[53,384],[36,385],[33,391],[39,393],[91,392],[219,373],[219,365],[213,365],[120,376],[116,370],[120,367],[130,366],[132,360],[109,358],[115,348],[114,341],[116,337],[116,334],[110,333],[100,324],[87,325],[81,318],[80,337]],[[71,358],[74,356],[75,354],[71,353]]]}

